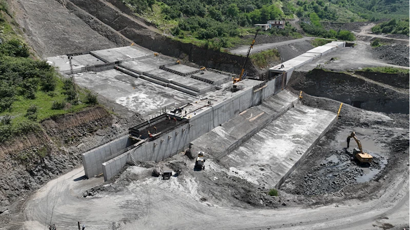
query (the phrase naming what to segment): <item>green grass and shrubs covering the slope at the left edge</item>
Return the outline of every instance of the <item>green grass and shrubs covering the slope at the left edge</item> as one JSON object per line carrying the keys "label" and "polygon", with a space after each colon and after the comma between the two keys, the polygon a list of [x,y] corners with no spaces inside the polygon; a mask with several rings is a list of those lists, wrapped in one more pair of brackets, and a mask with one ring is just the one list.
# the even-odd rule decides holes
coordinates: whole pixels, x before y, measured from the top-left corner
{"label": "green grass and shrubs covering the slope at the left edge", "polygon": [[0,0],[0,142],[40,131],[39,121],[67,113],[64,109],[76,112],[87,107],[79,100],[96,102],[31,55],[9,24],[11,16],[7,3]]}

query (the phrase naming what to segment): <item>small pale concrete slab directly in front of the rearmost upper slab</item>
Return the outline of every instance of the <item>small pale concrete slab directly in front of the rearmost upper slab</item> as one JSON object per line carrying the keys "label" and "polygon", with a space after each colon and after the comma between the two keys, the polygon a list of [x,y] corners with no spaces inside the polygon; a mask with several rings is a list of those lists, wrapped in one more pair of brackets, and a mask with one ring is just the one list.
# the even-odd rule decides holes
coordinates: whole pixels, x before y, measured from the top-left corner
{"label": "small pale concrete slab directly in front of the rearmost upper slab", "polygon": [[124,61],[120,66],[132,72],[143,74],[143,72],[157,70],[161,65],[166,65],[170,62],[172,61],[160,57],[148,57],[140,60]]}

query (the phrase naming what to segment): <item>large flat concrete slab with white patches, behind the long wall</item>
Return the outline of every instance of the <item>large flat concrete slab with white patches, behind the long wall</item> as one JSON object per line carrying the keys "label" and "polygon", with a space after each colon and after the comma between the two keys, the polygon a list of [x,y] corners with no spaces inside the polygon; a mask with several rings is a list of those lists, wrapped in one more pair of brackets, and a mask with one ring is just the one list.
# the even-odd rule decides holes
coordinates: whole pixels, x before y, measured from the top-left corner
{"label": "large flat concrete slab with white patches, behind the long wall", "polygon": [[192,101],[193,97],[143,80],[118,70],[77,74],[75,81],[143,116],[160,111],[163,107]]}

